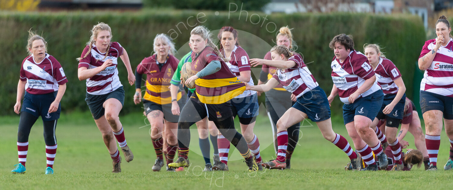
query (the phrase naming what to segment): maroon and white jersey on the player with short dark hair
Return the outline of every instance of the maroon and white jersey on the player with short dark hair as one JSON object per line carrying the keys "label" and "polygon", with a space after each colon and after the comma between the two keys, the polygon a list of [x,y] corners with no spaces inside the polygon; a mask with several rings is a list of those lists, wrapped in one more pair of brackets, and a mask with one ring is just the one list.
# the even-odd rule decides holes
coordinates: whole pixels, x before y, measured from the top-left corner
{"label": "maroon and white jersey on the player with short dark hair", "polygon": [[[333,57],[330,66],[332,67],[332,81],[338,89],[340,100],[345,104],[349,104],[349,96],[356,92],[366,79],[375,74],[365,55],[356,50],[352,50],[343,63]],[[380,89],[381,86],[376,80],[371,88],[361,93],[358,98],[366,97]]]}

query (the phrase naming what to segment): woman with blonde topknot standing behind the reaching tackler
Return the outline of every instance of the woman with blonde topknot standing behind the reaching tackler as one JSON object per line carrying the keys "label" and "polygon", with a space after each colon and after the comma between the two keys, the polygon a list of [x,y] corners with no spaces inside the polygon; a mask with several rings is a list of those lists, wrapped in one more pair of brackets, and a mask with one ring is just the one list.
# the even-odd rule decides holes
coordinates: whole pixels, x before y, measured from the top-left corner
{"label": "woman with blonde topknot standing behind the reaching tackler", "polygon": [[[284,45],[288,49],[294,49],[296,43],[293,40],[293,34],[288,26],[281,27],[279,34],[277,34],[277,45]],[[298,54],[299,55],[299,54]],[[299,55],[299,57],[302,57]],[[272,60],[270,52],[268,52],[264,59]],[[258,80],[258,85],[266,83],[273,74],[277,71],[277,68],[269,65],[263,65],[260,79]],[[261,92],[258,92],[260,95]],[[280,83],[275,88],[269,90],[265,96],[266,102],[266,111],[270,119],[270,124],[272,126],[272,134],[274,135],[274,149],[275,154],[278,151],[278,142],[277,142],[277,121],[283,116],[283,113],[286,112],[290,107],[296,102],[296,98],[292,93],[289,93],[283,88],[283,85]],[[286,150],[286,169],[290,169],[291,156],[296,148],[297,142],[299,141],[299,126],[300,123],[295,123],[293,126],[289,127],[288,130],[288,149]]]}

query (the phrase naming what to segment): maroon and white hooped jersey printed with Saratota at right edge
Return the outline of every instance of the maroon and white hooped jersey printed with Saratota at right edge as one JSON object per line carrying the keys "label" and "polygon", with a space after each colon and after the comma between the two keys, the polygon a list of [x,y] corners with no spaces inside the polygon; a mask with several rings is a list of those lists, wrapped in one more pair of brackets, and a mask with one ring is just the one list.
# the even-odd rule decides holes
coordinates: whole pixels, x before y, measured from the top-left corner
{"label": "maroon and white hooped jersey printed with Saratota at right edge", "polygon": [[[419,58],[422,58],[425,54],[431,54],[431,50],[434,49],[435,45],[436,39],[426,41]],[[453,97],[452,38],[450,38],[450,41],[446,46],[440,46],[437,50],[433,62],[424,72],[420,90]]]}

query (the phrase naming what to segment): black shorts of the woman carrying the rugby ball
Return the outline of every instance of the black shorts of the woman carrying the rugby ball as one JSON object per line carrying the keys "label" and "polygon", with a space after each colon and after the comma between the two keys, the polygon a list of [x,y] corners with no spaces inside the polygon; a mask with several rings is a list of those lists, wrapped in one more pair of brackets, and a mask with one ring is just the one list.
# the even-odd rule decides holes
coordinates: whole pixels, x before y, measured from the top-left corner
{"label": "black shorts of the woman carrying the rugby ball", "polygon": [[230,101],[220,104],[202,103],[197,93],[193,93],[189,99],[181,110],[179,122],[198,122],[205,117],[209,121],[223,121],[233,115]]}

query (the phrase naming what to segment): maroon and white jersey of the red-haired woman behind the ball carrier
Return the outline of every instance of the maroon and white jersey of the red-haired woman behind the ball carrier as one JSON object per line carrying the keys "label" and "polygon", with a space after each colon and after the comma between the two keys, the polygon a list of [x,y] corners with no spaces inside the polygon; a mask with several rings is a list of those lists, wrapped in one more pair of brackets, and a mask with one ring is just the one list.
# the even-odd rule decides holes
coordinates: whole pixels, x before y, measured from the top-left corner
{"label": "maroon and white jersey of the red-haired woman behind the ball carrier", "polygon": [[[223,56],[225,56],[225,52],[222,51]],[[230,68],[231,72],[236,75],[236,77],[241,76],[242,71],[251,71],[250,69],[250,62],[249,62],[249,55],[247,52],[241,48],[241,46],[235,46],[233,51],[230,55],[231,60],[229,62],[225,62]],[[248,82],[250,85],[255,85],[253,83],[252,76],[250,75],[250,81]],[[247,97],[250,95],[255,94],[256,91],[253,90],[246,90],[242,94],[237,95],[235,98]]]}

